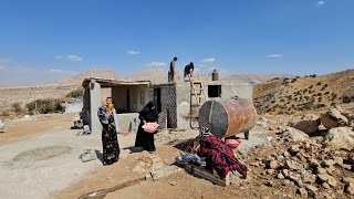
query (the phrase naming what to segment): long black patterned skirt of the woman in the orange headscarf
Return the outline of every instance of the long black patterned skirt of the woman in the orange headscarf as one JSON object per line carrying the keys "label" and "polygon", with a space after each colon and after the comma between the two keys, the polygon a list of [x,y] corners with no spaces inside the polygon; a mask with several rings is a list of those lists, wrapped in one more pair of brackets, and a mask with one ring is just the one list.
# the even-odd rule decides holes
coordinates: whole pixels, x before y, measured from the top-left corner
{"label": "long black patterned skirt of the woman in the orange headscarf", "polygon": [[102,129],[103,165],[112,165],[119,159],[119,144],[113,125],[104,125]]}

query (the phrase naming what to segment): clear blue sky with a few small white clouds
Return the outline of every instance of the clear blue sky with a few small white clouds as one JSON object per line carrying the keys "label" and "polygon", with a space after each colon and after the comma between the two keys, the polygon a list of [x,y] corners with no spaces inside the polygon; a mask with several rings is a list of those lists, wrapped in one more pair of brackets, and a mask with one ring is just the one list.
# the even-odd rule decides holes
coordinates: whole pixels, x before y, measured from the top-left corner
{"label": "clear blue sky with a few small white clouds", "polygon": [[354,67],[353,0],[0,0],[0,85],[90,69],[325,74]]}

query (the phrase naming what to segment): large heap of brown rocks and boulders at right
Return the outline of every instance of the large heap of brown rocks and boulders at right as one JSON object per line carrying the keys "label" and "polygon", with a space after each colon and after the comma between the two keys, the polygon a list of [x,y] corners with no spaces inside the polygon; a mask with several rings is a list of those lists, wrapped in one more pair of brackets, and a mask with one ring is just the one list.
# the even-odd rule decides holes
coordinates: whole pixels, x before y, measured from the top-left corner
{"label": "large heap of brown rocks and boulders at right", "polygon": [[[321,117],[305,115],[278,129],[275,153],[251,166],[262,175],[296,186],[302,197],[354,196],[353,113],[331,108]],[[267,186],[272,186],[267,181]]]}

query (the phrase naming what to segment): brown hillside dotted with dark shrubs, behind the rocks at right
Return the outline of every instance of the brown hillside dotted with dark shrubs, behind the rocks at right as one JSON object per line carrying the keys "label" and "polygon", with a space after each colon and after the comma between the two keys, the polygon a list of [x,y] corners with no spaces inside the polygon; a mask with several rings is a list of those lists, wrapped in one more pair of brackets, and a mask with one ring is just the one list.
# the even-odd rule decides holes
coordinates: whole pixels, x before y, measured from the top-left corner
{"label": "brown hillside dotted with dark shrubs, behind the rocks at right", "polygon": [[254,105],[260,113],[292,114],[335,105],[354,107],[354,70],[327,75],[283,77],[256,84]]}

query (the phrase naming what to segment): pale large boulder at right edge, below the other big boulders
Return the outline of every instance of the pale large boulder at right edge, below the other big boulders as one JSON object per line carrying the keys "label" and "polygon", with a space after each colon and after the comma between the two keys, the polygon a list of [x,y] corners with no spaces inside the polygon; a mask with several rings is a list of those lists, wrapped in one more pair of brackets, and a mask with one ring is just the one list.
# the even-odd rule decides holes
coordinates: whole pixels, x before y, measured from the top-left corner
{"label": "pale large boulder at right edge, below the other big boulders", "polygon": [[352,149],[354,146],[354,132],[348,127],[332,128],[324,134],[323,142],[334,148]]}

